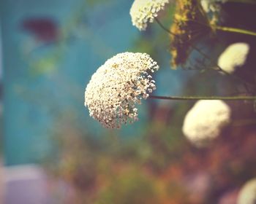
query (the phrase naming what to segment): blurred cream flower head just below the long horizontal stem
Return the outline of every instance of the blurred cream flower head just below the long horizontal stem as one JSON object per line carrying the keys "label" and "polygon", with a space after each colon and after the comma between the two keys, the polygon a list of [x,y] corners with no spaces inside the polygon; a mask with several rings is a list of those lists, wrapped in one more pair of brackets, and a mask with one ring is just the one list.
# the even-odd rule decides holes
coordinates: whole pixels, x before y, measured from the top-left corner
{"label": "blurred cream flower head just below the long horizontal stem", "polygon": [[230,107],[220,100],[200,100],[187,112],[182,127],[184,135],[197,147],[219,136],[230,122]]}

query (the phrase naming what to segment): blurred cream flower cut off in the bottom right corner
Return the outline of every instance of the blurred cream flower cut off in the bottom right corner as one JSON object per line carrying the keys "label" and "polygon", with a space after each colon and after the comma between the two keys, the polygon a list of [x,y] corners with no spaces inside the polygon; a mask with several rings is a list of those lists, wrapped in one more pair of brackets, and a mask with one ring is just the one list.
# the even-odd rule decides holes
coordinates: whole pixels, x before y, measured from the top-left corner
{"label": "blurred cream flower cut off in the bottom right corner", "polygon": [[244,184],[238,194],[237,204],[255,204],[256,203],[256,178],[253,178]]}

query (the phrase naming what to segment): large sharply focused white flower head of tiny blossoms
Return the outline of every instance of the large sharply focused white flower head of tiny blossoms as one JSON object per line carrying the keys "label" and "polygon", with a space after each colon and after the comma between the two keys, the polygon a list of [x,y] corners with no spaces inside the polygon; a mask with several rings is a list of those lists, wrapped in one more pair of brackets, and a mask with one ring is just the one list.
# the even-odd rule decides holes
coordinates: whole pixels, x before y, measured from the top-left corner
{"label": "large sharply focused white flower head of tiny blossoms", "polygon": [[158,69],[146,53],[124,52],[107,60],[86,87],[85,106],[90,116],[108,128],[137,120],[135,104],[156,89],[150,74]]}

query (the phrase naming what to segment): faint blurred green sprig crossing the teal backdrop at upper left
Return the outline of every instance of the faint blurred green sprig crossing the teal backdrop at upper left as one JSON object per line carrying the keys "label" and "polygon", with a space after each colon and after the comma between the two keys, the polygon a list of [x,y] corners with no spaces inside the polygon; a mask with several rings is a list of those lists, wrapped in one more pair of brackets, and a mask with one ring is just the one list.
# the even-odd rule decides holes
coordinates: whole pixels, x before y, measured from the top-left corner
{"label": "faint blurred green sprig crossing the teal backdrop at upper left", "polygon": [[[110,4],[111,2],[111,0],[104,1],[104,4]],[[23,58],[29,63],[32,76],[51,74],[58,70],[59,64],[67,52],[68,45],[75,38],[80,38],[81,34],[78,34],[79,32],[77,31],[79,28],[83,28],[83,38],[91,40],[94,34],[92,34],[91,28],[85,22],[88,19],[87,13],[89,9],[99,6],[99,4],[102,4],[102,0],[81,1],[80,5],[66,17],[64,23],[59,25],[58,39],[52,42],[53,44],[48,48],[48,52],[41,54],[39,58],[38,56],[34,58],[33,53],[37,52],[38,48],[43,47],[44,43],[26,42],[24,44],[25,50],[27,49],[29,52],[24,52]],[[97,43],[95,44],[96,46]],[[103,49],[104,45],[101,44],[100,47]]]}

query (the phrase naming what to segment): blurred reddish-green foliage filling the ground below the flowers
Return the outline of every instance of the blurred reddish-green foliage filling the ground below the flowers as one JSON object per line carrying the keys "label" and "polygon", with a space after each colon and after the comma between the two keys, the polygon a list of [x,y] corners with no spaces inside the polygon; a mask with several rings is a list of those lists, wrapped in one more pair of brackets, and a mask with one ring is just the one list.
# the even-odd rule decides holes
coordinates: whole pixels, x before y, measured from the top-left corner
{"label": "blurred reddish-green foliage filling the ground below the flowers", "polygon": [[[252,111],[243,106],[244,116],[236,117]],[[132,139],[113,134],[95,138],[67,122],[46,163],[53,178],[69,187],[62,200],[211,204],[255,176],[255,125],[227,127],[211,146],[196,149],[181,134],[187,109],[187,103],[165,108],[166,117],[160,118],[158,110],[142,127],[144,136]]]}

